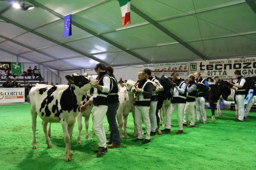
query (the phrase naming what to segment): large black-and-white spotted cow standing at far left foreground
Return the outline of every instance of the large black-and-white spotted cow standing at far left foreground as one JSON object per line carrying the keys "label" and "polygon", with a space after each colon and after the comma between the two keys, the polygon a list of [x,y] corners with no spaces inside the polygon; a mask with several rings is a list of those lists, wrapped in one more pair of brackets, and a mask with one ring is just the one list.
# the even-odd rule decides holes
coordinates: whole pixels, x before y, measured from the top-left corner
{"label": "large black-and-white spotted cow standing at far left foreground", "polygon": [[66,76],[70,85],[44,85],[37,84],[29,92],[31,102],[32,130],[33,130],[33,149],[36,146],[36,117],[41,117],[43,131],[47,147],[51,148],[51,142],[47,134],[48,122],[60,122],[64,133],[66,144],[65,161],[71,161],[73,155],[70,147],[75,118],[79,112],[79,104],[85,91],[98,85],[94,79],[85,78],[84,76],[73,74]]}

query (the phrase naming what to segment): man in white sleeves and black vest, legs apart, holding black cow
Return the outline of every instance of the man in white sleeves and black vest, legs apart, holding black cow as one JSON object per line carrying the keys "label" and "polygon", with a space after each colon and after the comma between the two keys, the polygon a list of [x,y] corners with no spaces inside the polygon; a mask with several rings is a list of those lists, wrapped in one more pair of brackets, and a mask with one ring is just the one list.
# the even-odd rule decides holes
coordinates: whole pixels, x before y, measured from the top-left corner
{"label": "man in white sleeves and black vest, legs apart, holding black cow", "polygon": [[177,72],[172,74],[172,81],[177,84],[177,86],[173,87],[170,92],[172,93],[171,104],[166,113],[166,125],[165,129],[161,130],[163,133],[171,133],[171,115],[176,107],[178,107],[177,111],[177,119],[179,124],[179,130],[176,134],[183,133],[183,120],[182,114],[186,103],[186,95],[187,95],[187,84],[184,79],[179,77]]}

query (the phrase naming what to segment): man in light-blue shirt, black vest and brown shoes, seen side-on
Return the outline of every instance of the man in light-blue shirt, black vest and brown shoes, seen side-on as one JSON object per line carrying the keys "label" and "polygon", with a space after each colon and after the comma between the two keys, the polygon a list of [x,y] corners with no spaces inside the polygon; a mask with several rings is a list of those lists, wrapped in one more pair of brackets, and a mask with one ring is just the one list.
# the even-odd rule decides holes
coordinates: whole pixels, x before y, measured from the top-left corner
{"label": "man in light-blue shirt, black vest and brown shoes, seen side-on", "polygon": [[195,76],[188,76],[188,86],[187,86],[187,102],[184,109],[184,118],[183,125],[187,126],[188,114],[190,115],[190,125],[187,127],[195,127],[195,104],[196,104],[196,94],[197,94],[197,85],[195,82]]}

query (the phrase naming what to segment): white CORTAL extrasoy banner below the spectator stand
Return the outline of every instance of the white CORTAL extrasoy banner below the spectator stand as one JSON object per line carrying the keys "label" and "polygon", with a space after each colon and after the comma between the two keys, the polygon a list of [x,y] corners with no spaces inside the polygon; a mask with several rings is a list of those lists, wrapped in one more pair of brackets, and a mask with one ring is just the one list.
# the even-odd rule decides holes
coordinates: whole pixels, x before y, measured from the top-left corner
{"label": "white CORTAL extrasoy banner below the spectator stand", "polygon": [[25,88],[0,88],[0,103],[25,102]]}

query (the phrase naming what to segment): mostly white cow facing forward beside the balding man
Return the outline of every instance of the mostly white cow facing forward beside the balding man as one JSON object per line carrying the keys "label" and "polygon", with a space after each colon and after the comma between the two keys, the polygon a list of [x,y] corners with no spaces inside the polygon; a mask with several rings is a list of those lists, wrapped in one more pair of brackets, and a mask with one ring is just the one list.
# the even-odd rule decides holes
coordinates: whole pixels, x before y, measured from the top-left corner
{"label": "mostly white cow facing forward beside the balding man", "polygon": [[[124,138],[129,139],[127,135],[126,125],[127,125],[127,117],[132,110],[134,116],[134,106],[132,104],[134,94],[137,92],[135,82],[132,80],[128,80],[125,84],[125,87],[120,88],[118,93],[119,96],[119,107],[116,111],[116,117],[119,127],[120,140],[122,140],[122,128],[124,127]],[[134,118],[133,118],[134,120]],[[134,121],[133,121],[134,122]],[[137,134],[137,129],[134,122],[134,136]]]}

